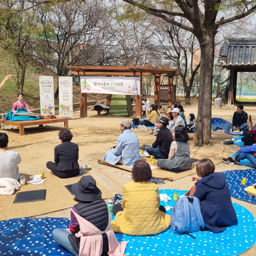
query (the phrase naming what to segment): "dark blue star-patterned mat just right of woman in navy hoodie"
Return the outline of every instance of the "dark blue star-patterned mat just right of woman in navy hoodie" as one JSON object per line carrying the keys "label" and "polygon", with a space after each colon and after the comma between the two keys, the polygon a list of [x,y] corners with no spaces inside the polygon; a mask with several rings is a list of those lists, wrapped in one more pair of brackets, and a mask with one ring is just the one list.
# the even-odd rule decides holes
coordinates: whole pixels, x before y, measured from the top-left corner
{"label": "dark blue star-patterned mat just right of woman in navy hoodie", "polygon": [[[233,198],[248,202],[250,204],[256,204],[256,198],[250,197],[244,188],[256,183],[256,170],[232,170],[222,172],[227,179],[227,184],[230,188],[230,193]],[[242,185],[242,178],[246,178],[246,185]]]}

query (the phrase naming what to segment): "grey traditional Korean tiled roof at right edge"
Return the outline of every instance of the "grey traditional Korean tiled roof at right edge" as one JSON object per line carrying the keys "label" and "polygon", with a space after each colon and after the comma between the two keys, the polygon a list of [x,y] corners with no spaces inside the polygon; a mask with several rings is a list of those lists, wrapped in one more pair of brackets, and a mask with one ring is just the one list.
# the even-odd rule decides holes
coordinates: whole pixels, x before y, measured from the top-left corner
{"label": "grey traditional Korean tiled roof at right edge", "polygon": [[256,38],[224,38],[218,65],[221,67],[256,67]]}

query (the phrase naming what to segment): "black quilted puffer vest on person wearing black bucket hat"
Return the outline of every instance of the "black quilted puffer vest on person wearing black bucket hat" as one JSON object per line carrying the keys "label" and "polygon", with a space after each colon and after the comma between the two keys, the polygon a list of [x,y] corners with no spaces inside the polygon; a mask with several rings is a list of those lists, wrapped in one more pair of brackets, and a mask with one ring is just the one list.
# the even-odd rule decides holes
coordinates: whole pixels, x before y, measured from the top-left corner
{"label": "black quilted puffer vest on person wearing black bucket hat", "polygon": [[[78,203],[74,206],[81,217],[89,221],[99,230],[104,231],[108,227],[108,206],[102,199],[93,202]],[[79,253],[80,239],[75,235],[68,236],[74,250]],[[108,253],[108,236],[102,233],[102,255]]]}

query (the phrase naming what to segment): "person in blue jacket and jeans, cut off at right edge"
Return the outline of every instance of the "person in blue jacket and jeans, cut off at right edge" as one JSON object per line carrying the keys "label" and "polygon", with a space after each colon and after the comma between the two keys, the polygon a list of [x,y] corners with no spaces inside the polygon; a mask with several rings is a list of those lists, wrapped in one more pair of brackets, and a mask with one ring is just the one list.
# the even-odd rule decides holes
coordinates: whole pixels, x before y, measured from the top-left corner
{"label": "person in blue jacket and jeans, cut off at right edge", "polygon": [[222,161],[228,164],[235,164],[236,161],[239,162],[240,160],[247,158],[249,162],[256,168],[256,158],[253,156],[254,153],[256,153],[256,144],[244,148],[239,148],[236,151],[235,156],[222,158]]}

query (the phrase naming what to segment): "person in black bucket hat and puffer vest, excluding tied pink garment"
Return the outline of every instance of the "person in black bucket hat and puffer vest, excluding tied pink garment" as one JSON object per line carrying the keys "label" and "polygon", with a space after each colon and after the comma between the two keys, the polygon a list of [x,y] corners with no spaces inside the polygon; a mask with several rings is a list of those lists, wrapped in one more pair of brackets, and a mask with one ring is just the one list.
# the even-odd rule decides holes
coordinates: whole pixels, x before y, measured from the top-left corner
{"label": "person in black bucket hat and puffer vest, excluding tied pink garment", "polygon": [[[75,236],[80,230],[79,222],[76,214],[89,221],[101,231],[105,231],[108,227],[108,206],[101,199],[102,192],[96,186],[96,181],[91,176],[81,177],[79,183],[72,185],[72,191],[76,196],[78,204],[71,209],[70,229],[64,230],[56,228],[52,232],[53,239],[58,242],[65,250],[75,256],[79,255],[80,238]],[[102,255],[106,255],[109,251],[108,236],[104,232],[102,235]]]}

